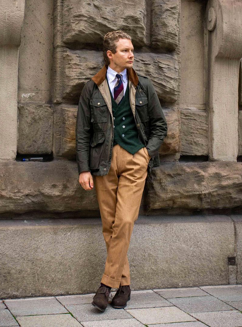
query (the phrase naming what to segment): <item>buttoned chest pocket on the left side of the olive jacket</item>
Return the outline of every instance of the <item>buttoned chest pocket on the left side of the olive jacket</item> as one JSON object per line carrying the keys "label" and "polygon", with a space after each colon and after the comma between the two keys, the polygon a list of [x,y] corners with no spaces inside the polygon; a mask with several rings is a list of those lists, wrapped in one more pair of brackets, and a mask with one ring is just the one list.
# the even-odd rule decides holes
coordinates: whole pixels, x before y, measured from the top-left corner
{"label": "buttoned chest pocket on the left side of the olive jacket", "polygon": [[104,98],[90,99],[91,122],[106,123],[108,117],[108,108]]}

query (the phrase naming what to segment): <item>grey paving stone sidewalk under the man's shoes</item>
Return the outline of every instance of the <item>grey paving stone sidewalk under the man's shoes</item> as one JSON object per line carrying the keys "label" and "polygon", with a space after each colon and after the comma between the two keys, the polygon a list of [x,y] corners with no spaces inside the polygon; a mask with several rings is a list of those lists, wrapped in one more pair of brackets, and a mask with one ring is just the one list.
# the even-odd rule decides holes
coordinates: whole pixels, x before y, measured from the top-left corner
{"label": "grey paving stone sidewalk under the man's shoes", "polygon": [[93,296],[2,299],[0,327],[242,326],[240,284],[131,291],[124,309],[108,304],[105,312],[90,304]]}

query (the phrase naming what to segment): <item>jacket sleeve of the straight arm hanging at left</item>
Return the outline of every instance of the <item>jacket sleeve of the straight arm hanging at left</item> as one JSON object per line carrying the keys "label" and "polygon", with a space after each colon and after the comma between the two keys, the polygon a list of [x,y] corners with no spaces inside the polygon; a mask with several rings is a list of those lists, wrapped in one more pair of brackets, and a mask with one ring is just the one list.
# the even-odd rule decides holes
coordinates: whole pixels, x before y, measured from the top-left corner
{"label": "jacket sleeve of the straight arm hanging at left", "polygon": [[90,171],[89,169],[89,146],[90,146],[90,94],[85,84],[80,95],[77,117],[76,117],[76,161],[78,174],[82,171]]}

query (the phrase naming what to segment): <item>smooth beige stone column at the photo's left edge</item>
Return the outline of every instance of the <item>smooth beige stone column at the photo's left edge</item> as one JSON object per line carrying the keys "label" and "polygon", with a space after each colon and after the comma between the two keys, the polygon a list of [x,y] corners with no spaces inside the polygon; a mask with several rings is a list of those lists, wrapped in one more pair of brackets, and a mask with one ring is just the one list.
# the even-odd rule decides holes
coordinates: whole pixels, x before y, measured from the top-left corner
{"label": "smooth beige stone column at the photo's left edge", "polygon": [[24,0],[1,0],[0,11],[0,160],[17,151],[18,56]]}

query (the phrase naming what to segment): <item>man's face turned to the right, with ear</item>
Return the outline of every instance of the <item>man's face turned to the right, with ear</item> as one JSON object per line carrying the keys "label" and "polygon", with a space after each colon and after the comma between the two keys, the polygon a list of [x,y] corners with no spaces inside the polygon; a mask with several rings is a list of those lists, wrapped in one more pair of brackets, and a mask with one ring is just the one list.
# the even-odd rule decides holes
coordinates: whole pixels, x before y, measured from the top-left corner
{"label": "man's face turned to the right, with ear", "polygon": [[119,73],[125,68],[132,68],[134,62],[133,50],[134,47],[130,40],[119,39],[116,53],[112,53],[110,50],[107,51],[110,68]]}

